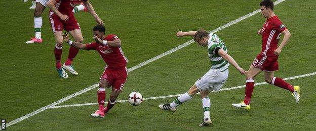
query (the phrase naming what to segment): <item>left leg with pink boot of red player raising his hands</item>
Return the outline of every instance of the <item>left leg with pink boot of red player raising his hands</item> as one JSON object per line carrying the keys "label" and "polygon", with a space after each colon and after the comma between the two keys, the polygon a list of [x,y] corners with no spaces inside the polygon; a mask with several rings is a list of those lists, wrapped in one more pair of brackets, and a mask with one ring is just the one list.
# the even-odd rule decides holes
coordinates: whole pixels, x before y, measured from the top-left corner
{"label": "left leg with pink boot of red player raising his hands", "polygon": [[91,114],[91,116],[93,116],[93,117],[104,117],[105,116],[105,114],[103,112],[104,102],[105,102],[105,88],[109,86],[108,81],[102,78],[105,74],[106,74],[106,71],[104,71],[103,75],[101,76],[100,83],[99,83],[99,89],[97,92],[99,109]]}

